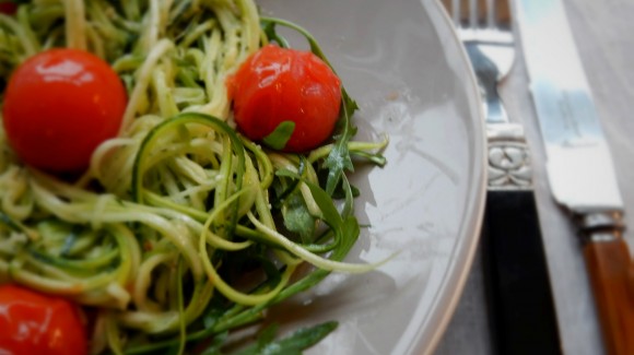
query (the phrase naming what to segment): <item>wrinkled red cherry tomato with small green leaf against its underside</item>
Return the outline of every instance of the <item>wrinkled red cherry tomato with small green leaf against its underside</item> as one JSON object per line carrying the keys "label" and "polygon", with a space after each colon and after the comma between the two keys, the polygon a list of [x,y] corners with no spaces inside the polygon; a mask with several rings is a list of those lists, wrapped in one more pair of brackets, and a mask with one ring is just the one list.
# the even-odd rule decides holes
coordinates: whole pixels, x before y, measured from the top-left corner
{"label": "wrinkled red cherry tomato with small green leaf against its underside", "polygon": [[294,122],[284,147],[290,152],[324,143],[339,117],[341,81],[308,51],[265,46],[230,79],[228,91],[237,127],[254,141],[284,121]]}

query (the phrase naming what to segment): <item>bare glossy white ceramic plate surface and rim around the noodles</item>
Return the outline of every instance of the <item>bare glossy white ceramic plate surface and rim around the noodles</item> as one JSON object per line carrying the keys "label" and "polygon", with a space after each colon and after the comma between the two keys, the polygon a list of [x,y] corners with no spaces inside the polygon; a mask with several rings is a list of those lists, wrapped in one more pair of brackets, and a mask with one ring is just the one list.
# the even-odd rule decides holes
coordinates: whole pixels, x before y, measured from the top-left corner
{"label": "bare glossy white ceramic plate surface and rim around the noodles", "polygon": [[361,139],[390,137],[384,169],[361,168],[362,225],[349,261],[272,310],[291,327],[338,320],[310,354],[426,354],[451,317],[478,241],[485,140],[474,79],[435,0],[261,0],[318,39],[361,110]]}

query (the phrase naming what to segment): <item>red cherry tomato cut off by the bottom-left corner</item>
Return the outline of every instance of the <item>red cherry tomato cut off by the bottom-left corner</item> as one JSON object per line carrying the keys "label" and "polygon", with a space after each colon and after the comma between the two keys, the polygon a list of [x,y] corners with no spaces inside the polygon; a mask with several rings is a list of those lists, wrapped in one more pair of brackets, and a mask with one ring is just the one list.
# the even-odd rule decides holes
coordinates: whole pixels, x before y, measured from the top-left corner
{"label": "red cherry tomato cut off by the bottom-left corner", "polygon": [[0,354],[82,355],[85,328],[70,301],[0,286]]}

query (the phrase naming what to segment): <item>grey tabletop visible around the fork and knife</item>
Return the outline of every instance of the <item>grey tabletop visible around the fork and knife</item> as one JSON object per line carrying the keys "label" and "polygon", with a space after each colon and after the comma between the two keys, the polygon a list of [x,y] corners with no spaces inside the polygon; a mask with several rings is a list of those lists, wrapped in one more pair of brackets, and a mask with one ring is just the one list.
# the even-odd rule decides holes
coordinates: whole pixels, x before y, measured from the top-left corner
{"label": "grey tabletop visible around the fork and knife", "polygon": [[[612,151],[625,202],[625,238],[634,246],[634,0],[564,0],[566,14]],[[565,211],[551,198],[544,150],[527,87],[521,49],[502,96],[525,126],[564,354],[604,354],[580,244]],[[483,272],[478,253],[460,303],[436,355],[491,354]]]}

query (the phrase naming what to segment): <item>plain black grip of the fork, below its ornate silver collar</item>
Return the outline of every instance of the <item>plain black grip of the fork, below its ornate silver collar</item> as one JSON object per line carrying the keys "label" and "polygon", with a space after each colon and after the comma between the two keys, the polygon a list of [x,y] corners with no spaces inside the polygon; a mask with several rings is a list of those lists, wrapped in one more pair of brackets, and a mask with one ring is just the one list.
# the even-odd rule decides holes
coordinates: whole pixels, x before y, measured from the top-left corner
{"label": "plain black grip of the fork, below its ornate silver collar", "polygon": [[490,190],[482,257],[495,353],[562,354],[532,190]]}

